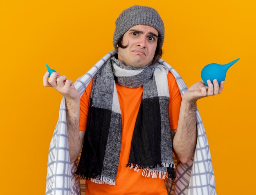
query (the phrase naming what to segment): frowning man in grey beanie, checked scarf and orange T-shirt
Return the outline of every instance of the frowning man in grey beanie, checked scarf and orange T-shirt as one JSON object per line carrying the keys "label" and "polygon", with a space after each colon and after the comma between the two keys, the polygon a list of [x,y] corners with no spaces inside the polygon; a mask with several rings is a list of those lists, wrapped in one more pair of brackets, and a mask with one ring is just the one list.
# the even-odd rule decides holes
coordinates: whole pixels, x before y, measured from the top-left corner
{"label": "frowning man in grey beanie, checked scarf and orange T-shirt", "polygon": [[[164,23],[155,9],[133,6],[116,20],[112,56],[80,98],[65,75],[48,72],[44,86],[66,99],[71,163],[90,179],[85,193],[166,194],[164,178],[174,178],[172,148],[182,163],[193,158],[196,101],[222,92],[216,80],[193,84],[181,98],[173,75],[158,64]],[[85,131],[86,130],[86,131]],[[137,173],[138,172],[138,173]],[[103,185],[105,184],[105,185]]]}

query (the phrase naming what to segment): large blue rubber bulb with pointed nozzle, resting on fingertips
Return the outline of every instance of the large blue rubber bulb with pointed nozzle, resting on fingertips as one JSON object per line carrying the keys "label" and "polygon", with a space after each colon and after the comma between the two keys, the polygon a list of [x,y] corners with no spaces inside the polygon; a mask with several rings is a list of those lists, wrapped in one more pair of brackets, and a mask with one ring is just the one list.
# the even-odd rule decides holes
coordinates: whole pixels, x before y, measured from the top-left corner
{"label": "large blue rubber bulb with pointed nozzle, resting on fingertips", "polygon": [[220,82],[225,81],[227,70],[235,64],[240,58],[229,62],[228,64],[208,64],[204,66],[204,68],[201,71],[201,78],[204,81],[204,84],[208,86],[207,80],[211,80],[211,83],[213,84],[213,80],[217,79],[218,84],[220,85]]}

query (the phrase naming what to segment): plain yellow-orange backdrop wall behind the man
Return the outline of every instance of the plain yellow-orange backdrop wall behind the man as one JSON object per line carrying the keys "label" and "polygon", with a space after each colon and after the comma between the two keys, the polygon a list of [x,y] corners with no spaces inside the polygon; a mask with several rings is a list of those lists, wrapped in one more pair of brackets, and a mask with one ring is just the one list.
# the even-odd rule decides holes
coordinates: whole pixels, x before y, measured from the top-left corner
{"label": "plain yellow-orange backdrop wall behind the man", "polygon": [[157,9],[164,55],[188,86],[209,63],[240,58],[221,94],[198,100],[219,195],[255,186],[256,3],[0,0],[1,194],[44,194],[61,94],[43,86],[45,63],[75,81],[113,49],[115,19],[134,5]]}

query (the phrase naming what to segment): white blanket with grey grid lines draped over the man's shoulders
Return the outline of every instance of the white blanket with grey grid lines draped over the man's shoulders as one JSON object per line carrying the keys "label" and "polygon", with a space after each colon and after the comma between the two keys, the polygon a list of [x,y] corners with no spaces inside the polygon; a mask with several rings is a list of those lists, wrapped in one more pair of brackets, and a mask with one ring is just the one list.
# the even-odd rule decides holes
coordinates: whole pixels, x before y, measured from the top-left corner
{"label": "white blanket with grey grid lines draped over the man's shoulders", "polygon": [[[100,67],[115,55],[116,51],[110,51],[83,76],[74,83],[80,95],[83,94],[90,80]],[[164,60],[159,60],[174,75],[180,93],[188,90],[177,71]],[[176,179],[170,183],[172,195],[216,195],[215,179],[211,162],[211,154],[207,136],[202,124],[198,109],[196,110],[196,121],[198,138],[195,149],[195,156],[186,164],[180,162],[176,167]],[[80,195],[79,177],[74,174],[78,160],[70,164],[70,155],[67,140],[67,124],[65,113],[65,98],[61,100],[59,118],[54,129],[53,137],[49,146],[46,195]]]}

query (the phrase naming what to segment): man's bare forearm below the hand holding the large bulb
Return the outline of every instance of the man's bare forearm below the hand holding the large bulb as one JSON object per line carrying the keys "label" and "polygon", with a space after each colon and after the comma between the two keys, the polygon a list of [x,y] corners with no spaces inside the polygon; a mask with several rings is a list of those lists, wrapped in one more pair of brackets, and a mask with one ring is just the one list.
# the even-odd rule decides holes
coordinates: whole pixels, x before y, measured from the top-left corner
{"label": "man's bare forearm below the hand holding the large bulb", "polygon": [[194,156],[196,140],[196,103],[182,100],[178,127],[173,138],[173,149],[182,163]]}

